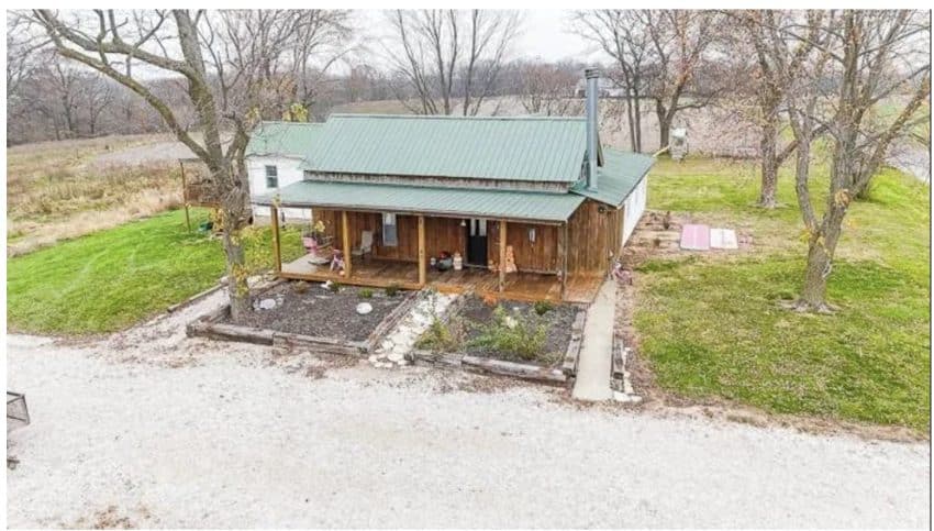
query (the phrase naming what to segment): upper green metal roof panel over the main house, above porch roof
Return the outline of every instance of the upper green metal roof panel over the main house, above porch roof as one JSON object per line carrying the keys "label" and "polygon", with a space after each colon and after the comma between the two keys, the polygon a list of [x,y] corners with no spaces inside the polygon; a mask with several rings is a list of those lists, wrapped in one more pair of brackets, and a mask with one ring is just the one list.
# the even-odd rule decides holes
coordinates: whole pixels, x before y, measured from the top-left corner
{"label": "upper green metal roof panel over the main house, above porch roof", "polygon": [[332,114],[302,169],[574,182],[583,118]]}

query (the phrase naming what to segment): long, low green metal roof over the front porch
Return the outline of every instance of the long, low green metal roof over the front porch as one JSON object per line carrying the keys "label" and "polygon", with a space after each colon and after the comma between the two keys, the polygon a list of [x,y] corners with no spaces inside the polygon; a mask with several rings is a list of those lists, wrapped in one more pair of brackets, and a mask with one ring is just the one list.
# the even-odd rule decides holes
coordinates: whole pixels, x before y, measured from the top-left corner
{"label": "long, low green metal roof over the front porch", "polygon": [[[262,196],[254,202],[271,204],[275,196]],[[549,222],[567,220],[583,202],[583,197],[574,193],[314,180],[286,186],[278,196],[281,207],[351,208]]]}

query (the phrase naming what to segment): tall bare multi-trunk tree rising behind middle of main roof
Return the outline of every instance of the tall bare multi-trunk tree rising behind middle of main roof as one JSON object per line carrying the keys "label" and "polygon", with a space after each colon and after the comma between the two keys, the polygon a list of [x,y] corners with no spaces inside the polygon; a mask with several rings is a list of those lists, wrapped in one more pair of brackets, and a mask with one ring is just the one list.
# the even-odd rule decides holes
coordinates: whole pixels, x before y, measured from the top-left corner
{"label": "tall bare multi-trunk tree rising behind middle of main roof", "polygon": [[[400,101],[419,114],[475,115],[496,86],[519,14],[487,10],[397,10],[387,55]],[[413,101],[414,99],[414,101]]]}

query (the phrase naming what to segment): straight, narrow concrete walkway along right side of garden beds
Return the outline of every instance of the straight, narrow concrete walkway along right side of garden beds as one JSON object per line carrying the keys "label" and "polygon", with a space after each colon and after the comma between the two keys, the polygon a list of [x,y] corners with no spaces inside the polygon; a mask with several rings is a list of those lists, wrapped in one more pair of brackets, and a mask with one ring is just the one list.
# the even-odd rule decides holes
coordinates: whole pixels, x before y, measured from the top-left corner
{"label": "straight, narrow concrete walkway along right side of garden beds", "polygon": [[597,299],[587,310],[583,325],[583,343],[577,364],[577,381],[574,398],[578,400],[609,400],[610,359],[613,353],[613,317],[616,308],[616,283],[607,280],[600,286]]}

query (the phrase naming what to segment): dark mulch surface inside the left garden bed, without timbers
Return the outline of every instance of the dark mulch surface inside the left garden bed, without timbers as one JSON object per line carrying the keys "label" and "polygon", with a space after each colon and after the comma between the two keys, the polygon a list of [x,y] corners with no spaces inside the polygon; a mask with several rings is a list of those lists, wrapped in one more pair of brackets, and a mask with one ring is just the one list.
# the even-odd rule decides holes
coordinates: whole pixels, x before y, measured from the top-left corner
{"label": "dark mulch surface inside the left garden bed, without timbers", "polygon": [[[405,292],[388,297],[381,289],[370,289],[373,297],[363,298],[367,288],[342,286],[332,292],[319,283],[307,283],[308,289],[299,292],[301,283],[282,283],[263,292],[259,300],[274,299],[276,308],[254,309],[237,324],[258,329],[289,332],[315,338],[335,338],[348,341],[365,341],[370,332],[399,305]],[[366,316],[357,313],[357,305],[369,302],[373,311]],[[230,316],[221,322],[231,323]]]}

